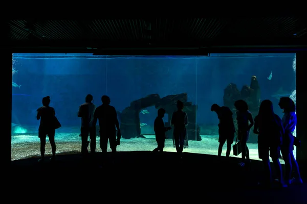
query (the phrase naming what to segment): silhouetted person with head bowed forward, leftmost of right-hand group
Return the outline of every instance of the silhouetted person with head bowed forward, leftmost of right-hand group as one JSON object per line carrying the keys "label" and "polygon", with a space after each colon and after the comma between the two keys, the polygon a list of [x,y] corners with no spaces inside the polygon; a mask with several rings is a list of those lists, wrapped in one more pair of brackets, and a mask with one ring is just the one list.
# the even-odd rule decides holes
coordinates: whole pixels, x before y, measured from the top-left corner
{"label": "silhouetted person with head bowed forward, leftmost of right-hand group", "polygon": [[217,114],[217,118],[220,120],[218,123],[218,151],[217,156],[221,158],[222,150],[225,142],[227,141],[227,150],[226,157],[230,156],[231,144],[233,143],[235,128],[232,119],[233,113],[226,106],[218,106],[217,104],[213,104],[211,106],[211,111],[214,111]]}

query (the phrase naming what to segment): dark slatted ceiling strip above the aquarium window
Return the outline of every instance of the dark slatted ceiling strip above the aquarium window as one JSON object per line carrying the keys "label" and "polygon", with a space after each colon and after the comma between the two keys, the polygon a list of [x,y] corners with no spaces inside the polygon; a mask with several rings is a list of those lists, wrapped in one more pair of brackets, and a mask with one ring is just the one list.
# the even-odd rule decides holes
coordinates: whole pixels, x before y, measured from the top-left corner
{"label": "dark slatted ceiling strip above the aquarium window", "polygon": [[307,47],[307,21],[298,17],[10,20],[2,47],[20,52],[214,50]]}

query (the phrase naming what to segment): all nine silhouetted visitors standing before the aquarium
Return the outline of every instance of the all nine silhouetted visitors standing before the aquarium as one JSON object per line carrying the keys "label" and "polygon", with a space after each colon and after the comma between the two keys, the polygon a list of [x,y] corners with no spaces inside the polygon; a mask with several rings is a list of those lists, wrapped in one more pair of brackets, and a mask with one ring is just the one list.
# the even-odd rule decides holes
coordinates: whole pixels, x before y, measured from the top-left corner
{"label": "all nine silhouetted visitors standing before the aquarium", "polygon": [[[107,152],[107,144],[109,141],[112,155],[116,155],[117,146],[120,144],[121,131],[117,119],[116,109],[110,106],[111,99],[103,95],[101,97],[102,105],[94,105],[94,99],[91,94],[86,95],[85,103],[79,107],[78,117],[81,117],[81,154],[85,157],[89,154],[87,147],[90,145],[91,155],[96,152],[96,123],[99,121],[99,136],[100,149],[105,156]],[[42,98],[42,107],[37,109],[37,120],[40,119],[38,128],[38,137],[40,138],[40,153],[41,159],[39,162],[45,160],[45,145],[46,137],[52,147],[51,160],[55,159],[56,145],[55,145],[55,117],[54,108],[49,106],[50,96]],[[248,104],[244,100],[237,100],[234,103],[236,109],[237,127],[234,125],[233,113],[225,106],[218,106],[213,104],[211,111],[216,112],[220,122],[218,123],[218,146],[217,156],[221,159],[222,150],[225,142],[227,143],[226,158],[230,157],[231,147],[234,141],[235,133],[237,140],[241,145],[242,161],[240,166],[245,166],[251,162],[247,142],[252,126],[254,126],[253,133],[258,135],[258,156],[262,160],[265,168],[264,182],[260,185],[270,186],[272,184],[272,173],[270,167],[270,157],[273,161],[277,173],[277,182],[282,187],[286,187],[292,183],[302,183],[299,173],[299,167],[293,155],[295,137],[293,131],[296,127],[296,113],[295,103],[289,97],[281,97],[279,107],[283,109],[283,117],[280,119],[274,113],[273,104],[270,100],[263,100],[259,107],[257,116],[253,119],[251,112],[248,109]],[[177,111],[172,114],[171,125],[173,126],[173,143],[176,147],[179,158],[182,158],[182,152],[187,141],[187,125],[188,116],[183,111],[184,103],[177,101]],[[165,146],[165,132],[169,131],[171,127],[165,127],[163,117],[165,115],[164,109],[158,110],[158,116],[154,122],[154,131],[156,135],[157,148],[153,151],[163,152]],[[90,141],[88,137],[90,135]],[[281,152],[281,154],[280,154]],[[285,163],[285,172],[282,173],[279,158],[281,157]],[[294,177],[291,174],[294,172]],[[283,176],[284,175],[284,176]]]}

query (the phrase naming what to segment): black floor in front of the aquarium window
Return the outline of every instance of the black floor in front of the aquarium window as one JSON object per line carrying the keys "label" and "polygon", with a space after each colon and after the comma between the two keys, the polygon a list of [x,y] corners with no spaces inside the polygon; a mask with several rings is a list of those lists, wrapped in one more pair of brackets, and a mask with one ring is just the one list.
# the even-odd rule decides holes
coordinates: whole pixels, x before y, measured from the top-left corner
{"label": "black floor in front of the aquarium window", "polygon": [[[179,160],[173,152],[164,152],[163,157],[150,151],[117,153],[115,163],[111,153],[104,163],[100,153],[95,159],[59,155],[56,161],[47,158],[42,164],[38,158],[12,161],[10,192],[23,201],[45,196],[45,201],[59,197],[99,201],[104,197],[115,202],[153,202],[162,196],[163,202],[307,203],[306,183],[283,189],[257,187],[260,161],[239,167],[236,158],[218,161],[210,155],[185,153]],[[18,192],[27,196],[19,197]]]}

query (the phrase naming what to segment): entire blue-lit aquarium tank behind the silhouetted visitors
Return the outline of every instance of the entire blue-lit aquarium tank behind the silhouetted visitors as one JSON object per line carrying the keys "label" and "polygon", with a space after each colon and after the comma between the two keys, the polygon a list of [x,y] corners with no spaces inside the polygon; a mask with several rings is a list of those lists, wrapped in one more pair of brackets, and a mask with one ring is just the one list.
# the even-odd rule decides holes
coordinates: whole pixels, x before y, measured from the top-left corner
{"label": "entire blue-lit aquarium tank behind the silhouetted visitors", "polygon": [[[81,152],[81,119],[77,112],[87,94],[94,96],[96,106],[102,104],[102,95],[111,98],[110,105],[117,110],[122,133],[118,151],[155,149],[153,122],[158,109],[166,110],[163,120],[169,126],[176,101],[182,100],[189,119],[188,148],[184,152],[208,155],[217,155],[218,148],[218,118],[210,110],[212,104],[229,107],[236,121],[234,101],[237,99],[247,101],[253,117],[264,99],[273,102],[274,111],[280,117],[283,113],[278,106],[279,98],[290,96],[296,101],[295,54],[14,53],[12,61],[12,160],[40,157],[36,110],[42,106],[45,96],[50,96],[50,106],[62,124],[55,135],[57,154]],[[252,83],[252,79],[257,83]],[[164,150],[176,152],[171,131],[166,138]],[[99,134],[96,140],[99,152]],[[252,131],[248,147],[250,158],[258,160],[257,135]],[[225,152],[226,144],[223,156]],[[48,139],[46,154],[52,154]],[[231,156],[236,157],[232,151]]]}

